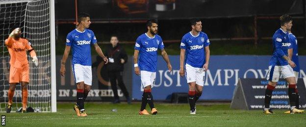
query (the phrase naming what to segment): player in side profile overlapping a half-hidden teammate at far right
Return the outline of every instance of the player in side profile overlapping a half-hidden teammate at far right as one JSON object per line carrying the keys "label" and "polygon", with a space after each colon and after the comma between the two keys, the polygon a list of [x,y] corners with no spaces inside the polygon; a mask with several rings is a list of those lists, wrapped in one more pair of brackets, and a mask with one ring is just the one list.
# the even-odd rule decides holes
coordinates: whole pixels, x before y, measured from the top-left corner
{"label": "player in side profile overlapping a half-hidden teammate at far right", "polygon": [[296,80],[292,67],[295,67],[295,63],[288,57],[288,46],[291,45],[289,41],[288,31],[292,27],[292,18],[289,15],[282,15],[280,17],[280,29],[278,29],[272,37],[273,40],[273,55],[269,63],[269,72],[267,80],[269,81],[264,99],[263,113],[274,113],[270,109],[270,102],[272,98],[272,92],[280,79],[280,75],[286,79],[288,83],[288,95],[290,102],[289,113],[303,113],[304,110],[296,108]]}

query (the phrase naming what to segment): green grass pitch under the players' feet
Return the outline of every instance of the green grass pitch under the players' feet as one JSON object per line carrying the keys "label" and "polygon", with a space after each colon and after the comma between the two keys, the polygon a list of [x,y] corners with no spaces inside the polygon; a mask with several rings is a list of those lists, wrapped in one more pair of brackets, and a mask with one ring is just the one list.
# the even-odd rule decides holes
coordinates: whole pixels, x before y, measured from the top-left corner
{"label": "green grass pitch under the players' feet", "polygon": [[[205,103],[204,103],[205,104]],[[92,127],[92,126],[160,126],[160,127],[305,127],[306,113],[265,115],[261,110],[233,110],[229,104],[197,105],[197,114],[189,114],[189,104],[156,103],[157,115],[138,115],[140,103],[128,105],[85,103],[87,117],[77,117],[74,103],[58,103],[56,113],[3,113],[7,127]],[[118,111],[112,111],[117,109]],[[147,106],[149,109],[149,106]],[[150,110],[148,110],[150,111]]]}

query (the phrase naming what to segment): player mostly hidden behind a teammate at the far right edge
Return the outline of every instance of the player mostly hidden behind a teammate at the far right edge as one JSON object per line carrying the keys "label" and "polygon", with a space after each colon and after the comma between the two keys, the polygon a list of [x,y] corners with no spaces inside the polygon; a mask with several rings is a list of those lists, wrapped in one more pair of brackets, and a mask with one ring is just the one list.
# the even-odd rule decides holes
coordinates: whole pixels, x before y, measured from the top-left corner
{"label": "player mostly hidden behind a teammate at the far right edge", "polygon": [[[300,72],[300,64],[299,64],[299,54],[298,54],[298,40],[297,38],[291,33],[291,30],[289,32],[289,42],[290,45],[288,47],[288,57],[290,60],[292,60],[296,66],[293,67],[293,72],[295,75],[295,82],[298,83],[299,78],[299,72]],[[296,108],[300,109],[300,94],[298,91],[297,86],[295,87],[295,93],[296,93]],[[290,111],[287,111],[287,113],[290,113]]]}

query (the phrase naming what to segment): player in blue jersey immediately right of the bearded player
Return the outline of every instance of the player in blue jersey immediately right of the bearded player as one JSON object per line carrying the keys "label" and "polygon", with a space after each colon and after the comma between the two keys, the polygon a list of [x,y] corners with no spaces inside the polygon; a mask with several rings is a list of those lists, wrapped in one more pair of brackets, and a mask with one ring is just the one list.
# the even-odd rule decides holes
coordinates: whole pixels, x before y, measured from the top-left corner
{"label": "player in blue jersey immediately right of the bearded player", "polygon": [[180,43],[179,74],[186,76],[190,114],[196,114],[196,102],[202,95],[205,71],[208,69],[210,42],[202,32],[202,22],[199,19],[191,19],[190,24],[192,30],[183,36]]}

